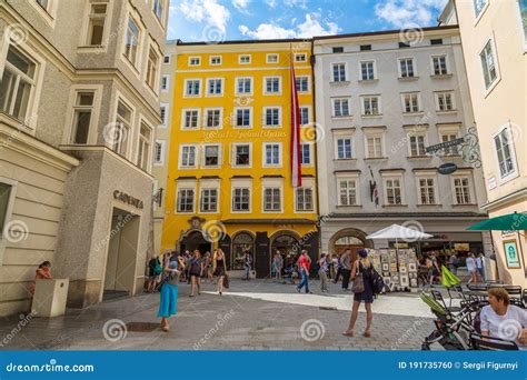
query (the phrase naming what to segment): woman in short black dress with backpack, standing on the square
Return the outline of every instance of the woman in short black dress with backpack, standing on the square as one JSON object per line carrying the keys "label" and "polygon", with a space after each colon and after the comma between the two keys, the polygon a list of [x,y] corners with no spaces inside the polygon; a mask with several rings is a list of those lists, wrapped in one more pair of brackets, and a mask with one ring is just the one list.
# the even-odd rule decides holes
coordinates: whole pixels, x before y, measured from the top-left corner
{"label": "woman in short black dress with backpack, standing on the square", "polygon": [[366,308],[366,330],[364,337],[371,337],[371,321],[374,320],[374,312],[371,311],[371,303],[374,303],[374,264],[368,259],[368,252],[365,249],[359,249],[359,259],[354,262],[351,268],[351,279],[354,280],[354,307],[351,309],[351,318],[349,320],[348,329],[342,332],[342,336],[352,337],[355,322],[359,313],[360,302],[365,302]]}

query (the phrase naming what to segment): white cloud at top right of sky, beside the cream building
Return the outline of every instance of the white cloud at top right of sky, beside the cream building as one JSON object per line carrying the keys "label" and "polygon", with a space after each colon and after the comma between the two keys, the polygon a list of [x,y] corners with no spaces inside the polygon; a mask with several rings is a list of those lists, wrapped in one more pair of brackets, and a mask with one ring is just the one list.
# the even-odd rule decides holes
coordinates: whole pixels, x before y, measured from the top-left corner
{"label": "white cloud at top right of sky, beside the cream building", "polygon": [[377,3],[375,13],[396,28],[427,27],[447,0],[388,0]]}

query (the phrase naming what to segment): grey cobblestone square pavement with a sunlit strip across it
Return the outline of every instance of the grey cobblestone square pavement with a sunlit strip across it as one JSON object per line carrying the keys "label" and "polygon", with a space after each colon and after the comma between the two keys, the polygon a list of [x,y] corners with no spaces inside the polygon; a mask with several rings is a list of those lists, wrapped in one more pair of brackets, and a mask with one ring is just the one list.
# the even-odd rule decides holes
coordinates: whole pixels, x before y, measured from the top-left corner
{"label": "grey cobblestone square pavement with a sunlit strip across it", "polygon": [[[52,319],[0,319],[0,349],[18,350],[418,350],[434,329],[431,314],[417,294],[381,296],[374,303],[371,338],[341,336],[351,294],[332,284],[330,293],[299,294],[294,286],[269,280],[232,280],[219,297],[213,284],[189,298],[179,287],[178,313],[170,332],[156,318],[159,294],[108,301],[68,310]],[[312,289],[318,290],[314,281]],[[119,328],[127,323],[127,331]]]}

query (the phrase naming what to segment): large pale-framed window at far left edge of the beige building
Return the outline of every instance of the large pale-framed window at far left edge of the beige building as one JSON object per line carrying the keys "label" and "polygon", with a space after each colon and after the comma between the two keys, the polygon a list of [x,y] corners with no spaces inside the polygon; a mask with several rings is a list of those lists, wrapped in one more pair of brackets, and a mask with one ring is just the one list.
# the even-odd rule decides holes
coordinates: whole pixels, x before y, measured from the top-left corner
{"label": "large pale-framed window at far left edge of the beige building", "polygon": [[37,64],[10,46],[0,82],[0,109],[19,121],[26,121],[36,87],[36,77]]}

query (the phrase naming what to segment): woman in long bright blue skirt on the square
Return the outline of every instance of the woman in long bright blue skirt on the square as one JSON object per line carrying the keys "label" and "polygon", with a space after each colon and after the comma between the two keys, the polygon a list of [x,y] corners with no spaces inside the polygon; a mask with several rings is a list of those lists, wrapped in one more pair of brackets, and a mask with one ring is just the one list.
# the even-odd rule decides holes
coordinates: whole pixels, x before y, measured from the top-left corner
{"label": "woman in long bright blue skirt on the square", "polygon": [[178,256],[177,261],[170,260],[167,267],[165,267],[166,280],[161,286],[161,301],[159,302],[158,317],[161,318],[161,329],[166,332],[169,330],[168,318],[175,316],[177,312],[178,282],[179,276],[183,270],[185,261],[180,256]]}

